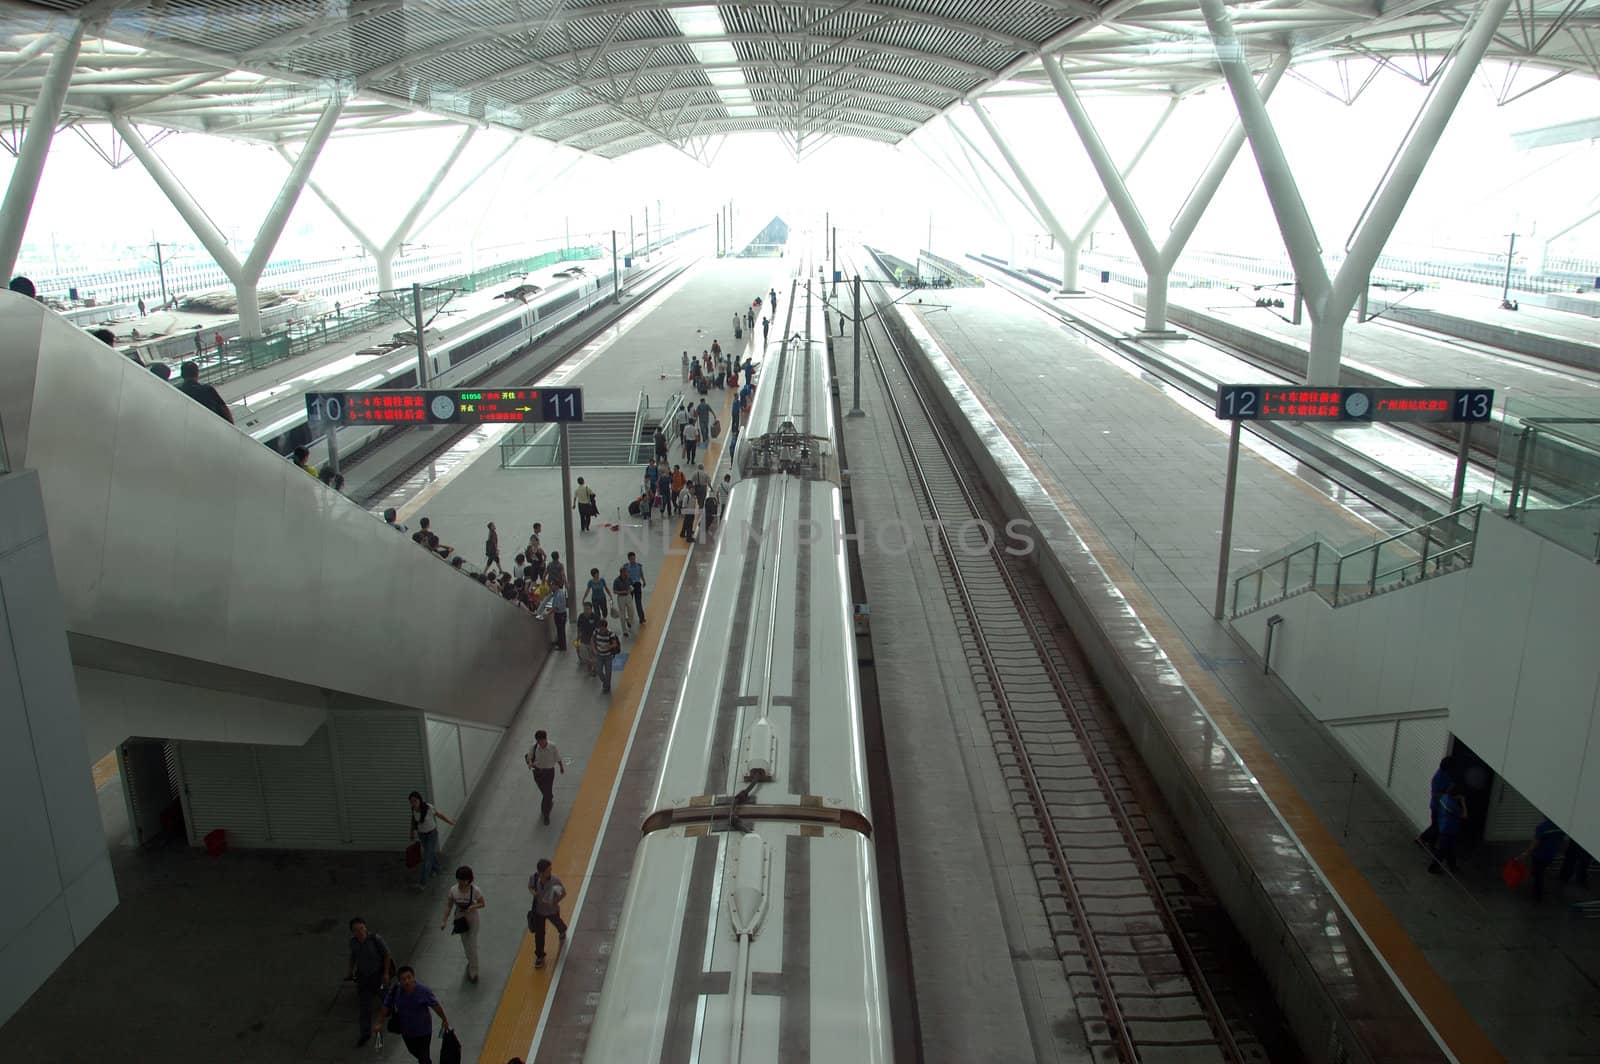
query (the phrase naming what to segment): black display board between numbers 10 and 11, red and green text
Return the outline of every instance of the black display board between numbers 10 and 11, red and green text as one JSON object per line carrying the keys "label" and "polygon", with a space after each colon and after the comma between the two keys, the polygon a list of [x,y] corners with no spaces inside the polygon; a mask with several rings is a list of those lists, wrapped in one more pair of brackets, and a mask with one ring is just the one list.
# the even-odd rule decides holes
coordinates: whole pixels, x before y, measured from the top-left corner
{"label": "black display board between numbers 10 and 11, red and green text", "polygon": [[336,426],[582,421],[579,387],[374,389],[306,392],[306,418]]}

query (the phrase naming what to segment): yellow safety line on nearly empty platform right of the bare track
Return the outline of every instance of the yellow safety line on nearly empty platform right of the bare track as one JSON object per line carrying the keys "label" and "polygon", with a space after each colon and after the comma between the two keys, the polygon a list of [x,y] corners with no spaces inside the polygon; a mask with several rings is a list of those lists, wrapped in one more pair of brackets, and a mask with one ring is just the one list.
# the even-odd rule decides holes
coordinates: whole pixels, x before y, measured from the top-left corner
{"label": "yellow safety line on nearly empty platform right of the bare track", "polygon": [[[949,354],[946,357],[949,358]],[[1299,787],[1285,774],[1272,752],[1261,744],[1254,730],[1240,717],[1232,699],[1190,653],[1187,640],[1149,597],[1144,584],[1123,566],[1120,555],[1101,538],[1096,525],[1072,502],[1072,498],[1061,488],[1054,475],[1034,456],[1022,434],[1016,430],[1016,426],[998,411],[978,382],[957,365],[955,358],[949,358],[949,362],[962,374],[962,379],[966,381],[973,395],[984,405],[1000,430],[1011,440],[1011,446],[1027,462],[1040,486],[1045,488],[1074,531],[1088,546],[1101,568],[1106,570],[1106,574],[1122,590],[1144,627],[1160,643],[1163,653],[1184,677],[1184,683],[1190,693],[1205,707],[1216,726],[1221,728],[1234,750],[1238,752],[1238,757],[1245,762],[1245,768],[1250,770],[1258,786],[1266,792],[1272,805],[1277,806],[1285,822],[1306,848],[1306,853],[1310,854],[1312,861],[1322,869],[1323,877],[1338,891],[1350,917],[1362,926],[1378,952],[1382,954],[1389,970],[1394,971],[1405,992],[1416,1002],[1418,1010],[1427,1018],[1427,1022],[1432,1024],[1438,1037],[1443,1038],[1450,1053],[1458,1061],[1472,1061],[1474,1064],[1504,1061],[1504,1054],[1461,1003],[1461,998],[1456,997],[1450,984],[1440,978],[1434,965],[1422,955],[1422,950],[1416,947],[1410,933],[1406,933],[1394,912],[1389,910],[1389,906],[1378,896],[1366,875],[1355,867],[1344,846],[1323,827],[1322,819],[1299,792]]]}

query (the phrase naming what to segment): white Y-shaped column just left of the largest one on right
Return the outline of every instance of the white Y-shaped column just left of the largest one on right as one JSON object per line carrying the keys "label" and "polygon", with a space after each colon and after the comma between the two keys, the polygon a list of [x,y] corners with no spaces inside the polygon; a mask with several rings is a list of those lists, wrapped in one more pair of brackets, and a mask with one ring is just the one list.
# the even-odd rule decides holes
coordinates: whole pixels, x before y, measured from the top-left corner
{"label": "white Y-shaped column just left of the largest one on right", "polygon": [[[1211,163],[1200,174],[1200,181],[1189,192],[1189,198],[1184,202],[1182,210],[1178,211],[1178,218],[1173,219],[1173,227],[1166,234],[1166,242],[1157,248],[1155,238],[1150,235],[1150,227],[1144,221],[1144,214],[1139,213],[1139,206],[1133,202],[1133,195],[1128,192],[1128,184],[1125,174],[1133,170],[1133,165],[1139,162],[1144,155],[1144,149],[1150,146],[1155,139],[1155,133],[1162,128],[1160,123],[1150,131],[1150,138],[1146,139],[1144,147],[1139,149],[1139,155],[1134,155],[1133,163],[1123,173],[1117,171],[1117,165],[1110,158],[1110,152],[1099,139],[1099,133],[1094,130],[1094,123],[1090,122],[1088,112],[1083,109],[1083,101],[1078,99],[1077,91],[1072,83],[1067,82],[1066,72],[1061,64],[1050,56],[1043,56],[1042,62],[1045,66],[1045,74],[1050,75],[1050,83],[1056,88],[1056,96],[1061,98],[1062,107],[1067,109],[1067,117],[1072,120],[1072,128],[1077,130],[1078,139],[1083,142],[1083,150],[1088,152],[1090,162],[1094,163],[1094,173],[1099,174],[1101,184],[1106,187],[1106,200],[1101,206],[1090,216],[1085,224],[1083,232],[1078,234],[1082,242],[1088,235],[1090,226],[1099,218],[1099,213],[1107,206],[1117,210],[1117,218],[1122,221],[1122,227],[1128,232],[1128,238],[1133,242],[1133,250],[1139,256],[1139,266],[1144,267],[1144,275],[1147,278],[1144,290],[1144,331],[1146,333],[1165,333],[1166,330],[1166,283],[1171,277],[1173,266],[1178,262],[1178,256],[1182,254],[1184,245],[1189,243],[1189,237],[1194,235],[1195,226],[1200,224],[1200,218],[1205,214],[1205,208],[1210,206],[1211,197],[1216,195],[1218,187],[1222,184],[1222,178],[1227,176],[1229,166],[1234,165],[1234,158],[1238,155],[1238,149],[1245,142],[1245,126],[1242,122],[1235,122],[1234,128],[1227,131],[1222,138],[1222,144],[1218,146],[1216,154],[1211,157]],[[1280,54],[1272,67],[1261,78],[1261,94],[1262,98],[1270,98],[1272,90],[1277,88],[1278,82],[1283,78],[1283,72],[1288,70],[1288,54]],[[1166,114],[1171,114],[1173,106],[1178,101],[1171,101]],[[1162,122],[1165,123],[1165,115]]]}

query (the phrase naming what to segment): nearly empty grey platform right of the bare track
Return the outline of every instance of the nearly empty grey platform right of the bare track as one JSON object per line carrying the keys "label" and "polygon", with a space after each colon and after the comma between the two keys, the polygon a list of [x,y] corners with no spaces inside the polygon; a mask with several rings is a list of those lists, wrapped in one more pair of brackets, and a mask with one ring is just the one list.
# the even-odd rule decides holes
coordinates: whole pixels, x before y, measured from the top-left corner
{"label": "nearly empty grey platform right of the bare track", "polygon": [[[1458,1056],[1491,1059],[1482,1053],[1498,1051],[1536,1061],[1594,1053],[1600,926],[1509,894],[1498,878],[1506,854],[1493,848],[1480,851],[1458,882],[1429,877],[1411,842],[1414,826],[1211,621],[1226,438],[1210,413],[1186,410],[1150,382],[1130,379],[1115,355],[1064,334],[1040,314],[1019,312],[1013,296],[962,290],[939,293],[939,302],[947,309],[909,314],[994,418],[998,434],[978,426],[974,437],[995,437],[992,446],[1006,450],[1013,464],[1027,456],[1032,486],[1018,491],[1032,496],[1030,510],[1042,507],[1037,520],[1082,538],[1088,555],[1074,563],[1101,568],[1107,594],[1125,597],[1136,613],[1136,627],[1107,638],[1125,640],[1131,659],[1147,658],[1155,640],[1210,714],[1205,728],[1221,730],[1243,755],[1350,910],[1371,917],[1368,933],[1402,979],[1418,981],[1408,992],[1438,1002]],[[1400,357],[1430,360],[1440,352]],[[1482,371],[1493,373],[1496,366],[1482,358]],[[1565,387],[1587,394],[1592,386],[1566,381]],[[1310,531],[1338,542],[1373,530],[1278,462],[1242,454],[1235,571]],[[1066,550],[1064,544],[1051,547]],[[1091,594],[1098,592],[1085,592]],[[1426,802],[1426,781],[1416,786]],[[1274,864],[1270,848],[1250,848],[1254,877],[1269,894],[1283,888],[1285,877],[1294,878]],[[1339,978],[1336,995],[1360,992],[1347,979],[1349,973]],[[1440,987],[1448,990],[1438,994]]]}

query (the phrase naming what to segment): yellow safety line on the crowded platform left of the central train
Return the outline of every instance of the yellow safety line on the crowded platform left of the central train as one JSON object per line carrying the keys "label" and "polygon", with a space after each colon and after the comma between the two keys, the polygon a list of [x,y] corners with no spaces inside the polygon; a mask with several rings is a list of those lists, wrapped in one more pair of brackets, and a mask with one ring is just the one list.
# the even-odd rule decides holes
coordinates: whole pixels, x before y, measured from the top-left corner
{"label": "yellow safety line on the crowded platform left of the central train", "polygon": [[[730,395],[722,403],[722,416],[731,410]],[[706,464],[717,467],[722,458],[722,438],[706,450]],[[656,573],[656,587],[674,587],[688,563],[690,549],[672,546],[661,560]],[[640,629],[638,642],[629,651],[629,659],[640,662],[654,661],[661,638],[666,634],[667,611],[659,613],[661,622],[648,629]],[[573,798],[571,813],[562,827],[562,838],[555,845],[550,861],[555,862],[555,874],[566,883],[571,898],[578,898],[587,882],[586,870],[605,827],[605,810],[611,798],[611,787],[616,774],[622,770],[622,754],[627,750],[627,738],[634,731],[634,720],[645,702],[645,682],[650,669],[622,669],[618,678],[611,706],[606,710],[605,723],[595,738],[589,765],[584,768],[582,782],[578,784],[578,795]],[[541,854],[542,856],[542,854]],[[554,954],[555,950],[552,950]],[[512,965],[506,989],[501,992],[501,1003],[494,1010],[488,1034],[483,1035],[483,1051],[478,1064],[506,1064],[514,1056],[522,1056],[533,1043],[533,1034],[539,1026],[539,1014],[550,994],[552,974],[555,973],[554,957],[544,968],[533,966],[533,934],[523,931],[522,947]]]}

